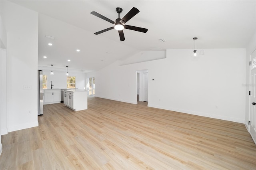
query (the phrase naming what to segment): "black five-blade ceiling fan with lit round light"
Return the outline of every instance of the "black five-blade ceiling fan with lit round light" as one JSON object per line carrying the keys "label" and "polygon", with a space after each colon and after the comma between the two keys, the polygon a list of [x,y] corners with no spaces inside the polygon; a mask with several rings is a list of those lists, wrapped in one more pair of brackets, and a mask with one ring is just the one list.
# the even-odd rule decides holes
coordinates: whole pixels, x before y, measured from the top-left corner
{"label": "black five-blade ceiling fan with lit round light", "polygon": [[140,27],[135,27],[135,26],[128,26],[128,25],[125,25],[126,22],[128,22],[132,17],[134,17],[136,14],[138,14],[140,11],[133,7],[125,16],[124,18],[120,18],[120,13],[122,12],[122,8],[116,8],[116,12],[118,13],[118,18],[116,19],[116,22],[106,18],[105,16],[93,11],[91,12],[92,15],[94,16],[97,16],[107,22],[110,22],[111,24],[115,24],[113,27],[110,27],[110,28],[107,28],[105,30],[101,30],[99,32],[96,32],[94,34],[98,35],[98,34],[101,34],[103,32],[106,32],[106,31],[109,31],[109,30],[112,30],[112,29],[116,29],[118,30],[118,33],[119,33],[119,37],[120,37],[120,40],[121,41],[124,41],[125,38],[124,38],[124,32],[123,32],[123,29],[128,29],[128,30],[134,30],[134,31],[138,31],[138,32],[144,32],[146,33],[148,31],[148,29],[146,28],[140,28]]}

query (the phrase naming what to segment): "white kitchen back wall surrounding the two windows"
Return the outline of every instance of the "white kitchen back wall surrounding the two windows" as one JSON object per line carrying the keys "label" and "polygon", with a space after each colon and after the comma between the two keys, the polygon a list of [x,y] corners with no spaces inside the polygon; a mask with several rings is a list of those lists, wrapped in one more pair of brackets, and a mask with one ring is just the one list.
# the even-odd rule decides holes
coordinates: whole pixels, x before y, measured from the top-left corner
{"label": "white kitchen back wall surrounding the two windows", "polygon": [[[51,88],[51,81],[54,89],[66,89],[67,88],[67,75],[66,75],[66,69],[63,71],[60,70],[54,70],[54,67],[52,71],[54,72],[54,75],[50,75],[51,70],[48,69],[40,69],[43,71],[43,75],[47,75],[47,88]],[[76,77],[76,88],[78,89],[84,89],[86,87],[86,73],[82,72],[74,72],[74,71],[68,71],[68,76],[74,76]]]}

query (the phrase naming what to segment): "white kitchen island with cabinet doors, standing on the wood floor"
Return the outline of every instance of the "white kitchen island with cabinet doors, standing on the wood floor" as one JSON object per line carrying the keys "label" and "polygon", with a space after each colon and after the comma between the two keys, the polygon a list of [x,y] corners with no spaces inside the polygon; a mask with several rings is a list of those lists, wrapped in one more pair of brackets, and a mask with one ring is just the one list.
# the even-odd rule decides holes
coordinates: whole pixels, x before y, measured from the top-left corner
{"label": "white kitchen island with cabinet doors, standing on the wood floor", "polygon": [[64,105],[74,111],[87,109],[87,91],[71,89],[63,91]]}

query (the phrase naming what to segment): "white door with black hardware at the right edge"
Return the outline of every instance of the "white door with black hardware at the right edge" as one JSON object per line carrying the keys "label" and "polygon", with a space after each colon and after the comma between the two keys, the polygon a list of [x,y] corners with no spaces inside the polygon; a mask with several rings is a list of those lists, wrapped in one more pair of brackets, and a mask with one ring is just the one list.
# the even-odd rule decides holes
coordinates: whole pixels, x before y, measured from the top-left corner
{"label": "white door with black hardware at the right edge", "polygon": [[256,50],[251,54],[251,77],[250,77],[250,127],[249,131],[256,144]]}

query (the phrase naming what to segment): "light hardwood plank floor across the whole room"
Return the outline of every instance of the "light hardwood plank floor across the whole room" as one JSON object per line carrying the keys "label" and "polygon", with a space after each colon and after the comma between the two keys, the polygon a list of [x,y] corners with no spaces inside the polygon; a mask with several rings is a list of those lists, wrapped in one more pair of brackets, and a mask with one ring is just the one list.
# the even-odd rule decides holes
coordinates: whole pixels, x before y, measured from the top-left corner
{"label": "light hardwood plank floor across the whole room", "polygon": [[2,136],[0,169],[256,169],[240,123],[88,97],[88,110],[44,105],[39,127]]}

